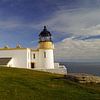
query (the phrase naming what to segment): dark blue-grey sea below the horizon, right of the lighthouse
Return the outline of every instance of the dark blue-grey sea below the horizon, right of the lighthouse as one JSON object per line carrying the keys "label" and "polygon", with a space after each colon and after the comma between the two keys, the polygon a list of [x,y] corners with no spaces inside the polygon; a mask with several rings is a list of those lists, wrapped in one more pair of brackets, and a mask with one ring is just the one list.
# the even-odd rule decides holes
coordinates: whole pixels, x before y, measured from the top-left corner
{"label": "dark blue-grey sea below the horizon, right of the lighthouse", "polygon": [[60,62],[68,73],[87,73],[100,76],[100,62]]}

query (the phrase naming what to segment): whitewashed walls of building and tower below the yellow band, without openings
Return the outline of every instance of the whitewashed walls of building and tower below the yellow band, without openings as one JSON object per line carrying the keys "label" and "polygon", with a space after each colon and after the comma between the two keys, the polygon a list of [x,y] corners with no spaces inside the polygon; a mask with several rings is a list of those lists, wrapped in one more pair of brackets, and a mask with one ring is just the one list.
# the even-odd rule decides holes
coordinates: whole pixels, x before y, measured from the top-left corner
{"label": "whitewashed walls of building and tower below the yellow band, without openings", "polygon": [[[46,58],[44,57],[44,52],[46,52]],[[33,54],[35,54],[35,59]],[[36,69],[54,69],[52,49],[39,49],[39,51],[31,51],[29,48],[0,50],[0,58],[9,57],[12,60],[8,63],[8,67],[31,68],[31,62],[34,62]]]}

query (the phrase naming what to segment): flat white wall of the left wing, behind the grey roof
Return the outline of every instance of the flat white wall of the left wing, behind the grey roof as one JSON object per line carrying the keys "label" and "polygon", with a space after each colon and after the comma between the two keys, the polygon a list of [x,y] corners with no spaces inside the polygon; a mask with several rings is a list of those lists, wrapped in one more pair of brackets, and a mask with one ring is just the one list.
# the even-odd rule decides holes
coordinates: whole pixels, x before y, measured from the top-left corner
{"label": "flat white wall of the left wing, behind the grey roof", "polygon": [[27,68],[28,49],[0,50],[0,58],[12,57],[12,67]]}

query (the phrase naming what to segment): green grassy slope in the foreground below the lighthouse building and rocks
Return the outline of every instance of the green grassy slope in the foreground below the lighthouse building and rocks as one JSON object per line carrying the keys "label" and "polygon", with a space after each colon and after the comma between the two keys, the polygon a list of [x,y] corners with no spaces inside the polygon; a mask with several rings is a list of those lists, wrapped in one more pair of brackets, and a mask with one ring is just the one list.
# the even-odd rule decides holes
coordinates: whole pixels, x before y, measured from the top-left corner
{"label": "green grassy slope in the foreground below the lighthouse building and rocks", "polygon": [[61,75],[1,67],[0,100],[100,100],[100,85],[81,85]]}

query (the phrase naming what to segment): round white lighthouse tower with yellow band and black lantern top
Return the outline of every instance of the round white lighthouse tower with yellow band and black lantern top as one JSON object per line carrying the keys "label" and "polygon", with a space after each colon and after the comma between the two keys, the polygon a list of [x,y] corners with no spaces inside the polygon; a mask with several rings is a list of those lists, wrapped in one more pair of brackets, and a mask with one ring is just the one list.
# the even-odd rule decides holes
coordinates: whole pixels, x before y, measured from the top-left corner
{"label": "round white lighthouse tower with yellow band and black lantern top", "polygon": [[51,37],[51,33],[44,26],[39,34],[39,63],[43,69],[54,69],[54,44]]}

